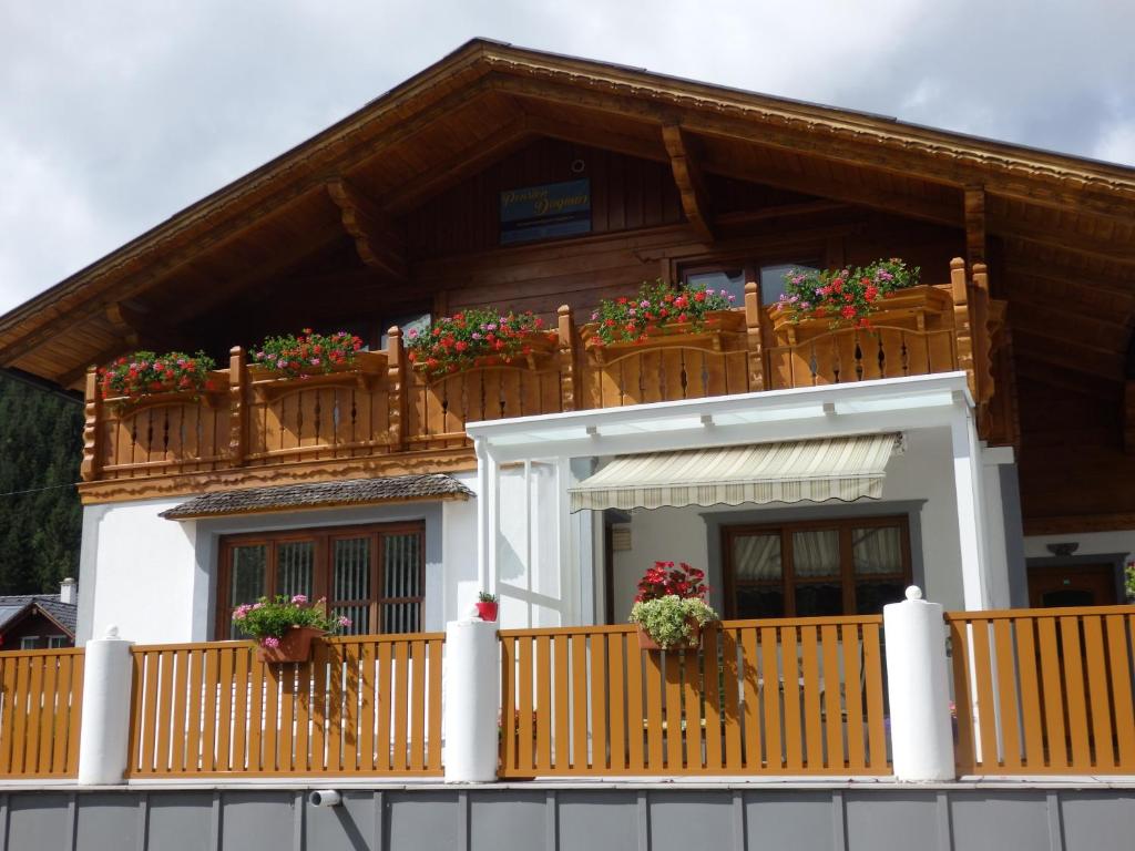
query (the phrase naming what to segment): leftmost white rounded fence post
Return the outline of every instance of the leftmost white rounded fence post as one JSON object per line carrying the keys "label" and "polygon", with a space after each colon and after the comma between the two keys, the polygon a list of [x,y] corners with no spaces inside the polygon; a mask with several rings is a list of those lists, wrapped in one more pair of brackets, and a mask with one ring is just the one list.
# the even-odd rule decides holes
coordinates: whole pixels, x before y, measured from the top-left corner
{"label": "leftmost white rounded fence post", "polygon": [[83,660],[83,732],[78,745],[81,786],[123,783],[129,748],[131,647],[118,627],[91,640]]}

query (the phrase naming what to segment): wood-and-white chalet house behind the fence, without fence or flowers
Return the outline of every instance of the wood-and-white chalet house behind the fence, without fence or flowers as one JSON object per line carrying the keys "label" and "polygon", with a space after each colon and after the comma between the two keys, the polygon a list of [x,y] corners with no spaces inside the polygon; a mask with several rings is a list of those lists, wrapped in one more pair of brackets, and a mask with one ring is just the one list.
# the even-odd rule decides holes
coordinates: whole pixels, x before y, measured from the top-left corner
{"label": "wood-and-white chalet house behind the fence, without fence or flowers", "polygon": [[[0,318],[0,363],[86,393],[79,642],[227,638],[263,593],[358,632],[479,589],[506,626],[621,622],[655,559],[731,617],[1113,603],[1133,212],[1129,168],[474,41]],[[878,334],[772,309],[793,266],[878,258],[934,285]],[[594,346],[659,277],[737,309]],[[431,379],[388,332],[484,305],[554,339]],[[370,351],[230,354],[306,327]],[[222,369],[106,398],[87,366],[140,348]]]}

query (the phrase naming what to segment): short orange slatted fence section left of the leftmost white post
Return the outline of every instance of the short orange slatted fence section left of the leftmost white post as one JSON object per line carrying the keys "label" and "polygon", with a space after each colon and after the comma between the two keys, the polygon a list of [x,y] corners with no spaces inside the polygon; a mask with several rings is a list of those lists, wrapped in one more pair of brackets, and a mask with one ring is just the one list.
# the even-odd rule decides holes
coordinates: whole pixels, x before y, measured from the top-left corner
{"label": "short orange slatted fence section left of the leftmost white post", "polygon": [[74,777],[83,651],[0,654],[0,777]]}

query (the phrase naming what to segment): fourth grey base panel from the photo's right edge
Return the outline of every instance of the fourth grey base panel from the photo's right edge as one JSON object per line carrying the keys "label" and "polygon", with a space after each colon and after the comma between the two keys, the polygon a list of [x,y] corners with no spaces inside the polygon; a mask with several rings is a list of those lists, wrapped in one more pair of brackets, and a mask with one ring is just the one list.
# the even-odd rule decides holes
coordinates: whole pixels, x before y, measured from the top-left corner
{"label": "fourth grey base panel from the photo's right edge", "polygon": [[746,848],[749,851],[800,851],[834,848],[831,792],[759,791],[745,794]]}

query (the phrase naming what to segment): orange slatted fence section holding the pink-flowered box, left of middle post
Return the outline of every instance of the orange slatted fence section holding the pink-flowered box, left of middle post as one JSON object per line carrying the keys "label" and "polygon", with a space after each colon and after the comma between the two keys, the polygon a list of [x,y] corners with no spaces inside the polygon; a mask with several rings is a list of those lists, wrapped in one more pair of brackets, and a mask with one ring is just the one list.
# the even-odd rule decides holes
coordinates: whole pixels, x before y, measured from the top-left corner
{"label": "orange slatted fence section holding the pink-flowered box, left of middle post", "polygon": [[440,775],[444,633],[134,648],[132,777]]}

